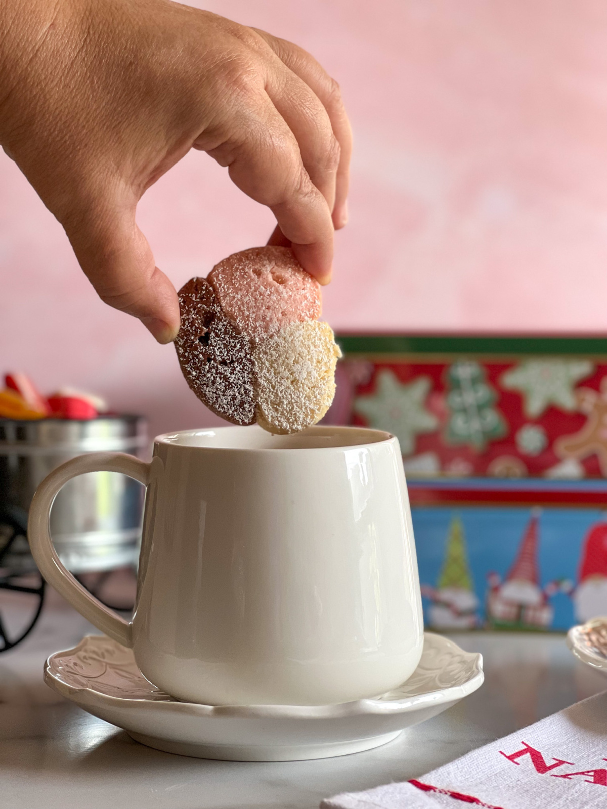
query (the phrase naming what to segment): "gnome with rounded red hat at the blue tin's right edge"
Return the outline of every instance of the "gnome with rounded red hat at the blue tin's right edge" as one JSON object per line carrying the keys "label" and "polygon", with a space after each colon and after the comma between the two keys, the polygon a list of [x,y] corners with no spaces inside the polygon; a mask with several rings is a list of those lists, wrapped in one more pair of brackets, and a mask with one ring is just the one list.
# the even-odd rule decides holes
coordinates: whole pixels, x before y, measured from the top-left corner
{"label": "gnome with rounded red hat at the blue tin's right edge", "polygon": [[581,623],[607,615],[607,514],[584,540],[579,582],[573,594],[575,617]]}

